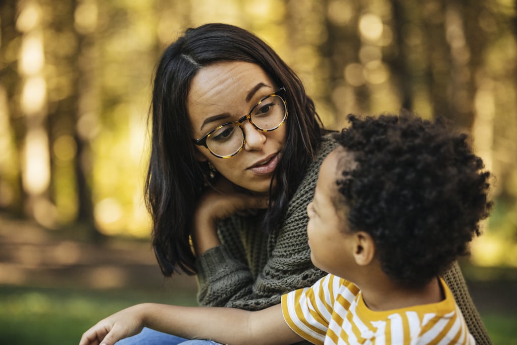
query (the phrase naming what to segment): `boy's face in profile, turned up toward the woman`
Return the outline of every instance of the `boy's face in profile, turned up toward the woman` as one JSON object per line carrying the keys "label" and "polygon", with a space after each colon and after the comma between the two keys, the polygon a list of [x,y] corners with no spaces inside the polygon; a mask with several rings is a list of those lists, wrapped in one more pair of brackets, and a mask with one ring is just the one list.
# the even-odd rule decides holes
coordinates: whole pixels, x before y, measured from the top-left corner
{"label": "boy's face in profile, turned up toward the woman", "polygon": [[[339,164],[339,169],[338,169]],[[314,198],[307,206],[309,223],[307,235],[312,263],[323,271],[344,277],[352,266],[353,256],[348,250],[348,208],[338,191],[337,179],[343,169],[353,169],[353,155],[343,147],[332,151],[322,163]],[[345,277],[346,278],[346,277]]]}

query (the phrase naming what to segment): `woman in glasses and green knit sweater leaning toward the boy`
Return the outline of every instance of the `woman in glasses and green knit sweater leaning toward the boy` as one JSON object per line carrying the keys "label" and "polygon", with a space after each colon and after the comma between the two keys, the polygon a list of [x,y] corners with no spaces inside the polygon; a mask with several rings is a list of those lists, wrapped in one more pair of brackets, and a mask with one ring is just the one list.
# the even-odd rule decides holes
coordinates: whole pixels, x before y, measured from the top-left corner
{"label": "woman in glasses and green knit sweater leaning toward the boy", "polygon": [[[152,116],[146,197],[165,276],[197,274],[200,305],[257,310],[324,275],[306,207],[337,144],[266,43],[232,25],[188,29],[162,55]],[[457,264],[445,279],[477,342],[490,343]],[[183,340],[144,329],[118,343]]]}

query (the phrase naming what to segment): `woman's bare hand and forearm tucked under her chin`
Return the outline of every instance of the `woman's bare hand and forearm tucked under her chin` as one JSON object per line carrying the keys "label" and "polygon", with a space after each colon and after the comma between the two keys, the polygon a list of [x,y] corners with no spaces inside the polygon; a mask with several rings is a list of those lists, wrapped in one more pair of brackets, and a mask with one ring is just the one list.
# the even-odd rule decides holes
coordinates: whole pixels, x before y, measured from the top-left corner
{"label": "woman's bare hand and forearm tucked under her chin", "polygon": [[268,196],[256,196],[238,191],[224,176],[209,188],[197,204],[194,212],[192,242],[200,256],[210,248],[221,244],[217,236],[217,221],[238,212],[267,208]]}

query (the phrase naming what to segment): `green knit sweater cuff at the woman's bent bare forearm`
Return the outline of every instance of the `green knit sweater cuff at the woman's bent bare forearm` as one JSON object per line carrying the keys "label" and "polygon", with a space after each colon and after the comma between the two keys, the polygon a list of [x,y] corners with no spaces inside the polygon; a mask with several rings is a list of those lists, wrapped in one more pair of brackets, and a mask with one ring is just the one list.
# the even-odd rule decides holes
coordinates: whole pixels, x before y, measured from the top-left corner
{"label": "green knit sweater cuff at the woman's bent bare forearm", "polygon": [[197,280],[200,285],[210,282],[210,277],[221,271],[234,270],[232,266],[240,266],[226,250],[224,245],[219,245],[205,251],[196,260]]}

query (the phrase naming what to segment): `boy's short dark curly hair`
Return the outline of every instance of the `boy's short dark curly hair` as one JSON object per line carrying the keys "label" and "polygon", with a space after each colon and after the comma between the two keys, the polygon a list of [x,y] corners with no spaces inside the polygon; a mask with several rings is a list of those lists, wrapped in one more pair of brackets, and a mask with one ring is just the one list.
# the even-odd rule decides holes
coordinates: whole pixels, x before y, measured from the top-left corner
{"label": "boy's short dark curly hair", "polygon": [[466,134],[443,119],[424,121],[408,112],[360,119],[337,141],[358,163],[337,181],[349,206],[352,231],[374,239],[383,271],[418,287],[442,274],[488,217],[490,173]]}

